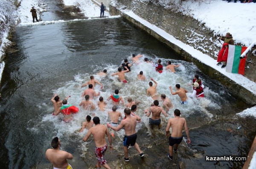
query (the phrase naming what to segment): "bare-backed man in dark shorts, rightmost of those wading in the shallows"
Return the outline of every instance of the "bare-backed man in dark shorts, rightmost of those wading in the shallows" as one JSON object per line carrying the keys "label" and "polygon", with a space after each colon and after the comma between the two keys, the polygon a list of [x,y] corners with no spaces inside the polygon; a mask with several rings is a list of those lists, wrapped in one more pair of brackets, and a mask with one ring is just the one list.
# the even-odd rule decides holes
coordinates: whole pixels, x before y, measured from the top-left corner
{"label": "bare-backed man in dark shorts, rightmost of those wading in the shallows", "polygon": [[187,128],[186,119],[180,117],[180,110],[175,109],[174,110],[174,116],[175,118],[170,118],[168,120],[167,126],[166,126],[166,136],[169,136],[170,134],[170,127],[172,127],[172,134],[169,137],[169,155],[168,159],[172,161],[172,151],[174,149],[174,152],[177,153],[178,145],[181,143],[183,136],[182,136],[182,129],[185,128],[186,136],[187,136],[187,142],[188,144],[191,143],[189,138],[189,130]]}

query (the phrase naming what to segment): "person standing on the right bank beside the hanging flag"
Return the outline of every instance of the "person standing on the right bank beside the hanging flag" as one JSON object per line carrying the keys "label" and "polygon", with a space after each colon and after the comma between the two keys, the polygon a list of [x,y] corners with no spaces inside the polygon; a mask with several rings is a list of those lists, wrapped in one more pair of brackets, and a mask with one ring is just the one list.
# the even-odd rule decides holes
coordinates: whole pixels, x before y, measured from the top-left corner
{"label": "person standing on the right bank beside the hanging flag", "polygon": [[218,54],[217,66],[221,65],[221,62],[223,62],[221,68],[225,68],[227,65],[228,45],[234,45],[234,40],[232,34],[230,34],[229,32],[227,32],[225,39],[221,38],[221,40],[224,41],[224,44],[222,45],[222,48]]}

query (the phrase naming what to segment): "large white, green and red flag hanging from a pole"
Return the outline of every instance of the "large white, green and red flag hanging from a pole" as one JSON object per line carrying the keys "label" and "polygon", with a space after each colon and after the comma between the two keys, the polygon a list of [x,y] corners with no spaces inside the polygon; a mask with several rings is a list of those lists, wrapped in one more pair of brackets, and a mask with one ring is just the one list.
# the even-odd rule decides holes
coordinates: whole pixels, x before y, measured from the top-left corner
{"label": "large white, green and red flag hanging from a pole", "polygon": [[228,45],[227,55],[227,68],[226,72],[238,73],[244,75],[246,55],[243,59],[240,59],[241,54],[247,49],[247,47]]}

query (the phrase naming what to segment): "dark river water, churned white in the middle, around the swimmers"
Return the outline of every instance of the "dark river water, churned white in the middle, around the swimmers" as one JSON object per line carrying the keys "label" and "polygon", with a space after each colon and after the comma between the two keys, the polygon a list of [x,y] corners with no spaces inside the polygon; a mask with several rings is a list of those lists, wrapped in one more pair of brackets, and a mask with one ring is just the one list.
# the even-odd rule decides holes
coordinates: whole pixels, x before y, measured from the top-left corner
{"label": "dark river water, churned white in the middle, around the swimmers", "polygon": [[[183,61],[170,48],[122,18],[17,27],[14,41],[14,48],[18,51],[6,58],[0,86],[1,168],[52,168],[44,155],[51,148],[50,143],[55,136],[61,139],[62,149],[73,154],[74,159],[69,161],[73,168],[95,167],[94,142],[90,138],[84,143],[82,139],[87,130],[81,133],[77,131],[86,115],[92,113],[99,116],[101,124],[106,124],[109,121],[107,112],[100,112],[98,108],[88,112],[79,107],[73,121],[65,123],[63,115],[51,115],[53,106],[50,101],[54,93],[58,93],[61,99],[71,95],[68,102],[78,106],[81,93],[87,88],[81,88],[81,84],[89,80],[91,75],[103,84],[102,90],[99,85],[95,90],[100,91],[100,96],[105,100],[115,89],[119,89],[125,102],[128,97],[141,101],[137,105],[137,115],[142,118],[142,122],[137,124],[137,143],[145,157],[141,159],[132,147],[129,149],[130,162],[123,160],[124,131],[121,130],[115,132],[113,151],[108,149],[105,155],[112,168],[169,169],[178,168],[181,161],[187,168],[242,167],[244,161],[210,162],[205,161],[205,157],[247,155],[255,130],[244,127],[236,131],[244,119],[234,115],[249,105],[234,98],[219,82],[209,79],[195,65]],[[177,73],[164,71],[159,74],[151,64],[134,64],[131,72],[125,74],[128,84],[122,84],[110,75],[117,71],[123,59],[131,60],[133,53],[143,54],[143,58],[148,57],[153,62],[161,59],[164,66],[170,60],[180,64],[180,67],[176,69]],[[108,70],[108,76],[97,75],[103,69]],[[147,78],[145,82],[137,80],[141,70]],[[175,90],[175,84],[179,83],[192,93],[189,83],[196,73],[206,86],[205,98],[189,98],[188,105],[181,105],[178,96],[170,94],[169,86]],[[168,117],[161,117],[160,130],[148,127],[148,117],[143,111],[153,101],[146,96],[151,77],[158,83],[157,92],[165,93],[174,104],[174,109],[180,109],[191,135],[192,144],[187,145],[184,139],[172,163],[167,159],[168,138],[164,131],[168,119],[174,117],[174,109],[168,112]],[[94,102],[98,99],[96,97]],[[109,101],[107,110],[111,107]],[[119,111],[123,113],[123,109],[124,106],[121,106]]]}

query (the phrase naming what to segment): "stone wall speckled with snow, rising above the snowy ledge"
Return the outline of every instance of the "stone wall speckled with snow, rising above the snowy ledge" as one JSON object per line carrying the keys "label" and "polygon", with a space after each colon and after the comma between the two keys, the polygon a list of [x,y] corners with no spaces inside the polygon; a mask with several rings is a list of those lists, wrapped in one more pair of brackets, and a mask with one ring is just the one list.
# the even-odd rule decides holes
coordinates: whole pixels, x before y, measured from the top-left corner
{"label": "stone wall speckled with snow, rising above the snowy ledge", "polygon": [[[172,12],[170,9],[155,4],[154,1],[116,0],[116,2],[115,6],[132,10],[139,17],[163,29],[176,39],[193,46],[217,60],[218,51],[221,49],[221,42],[216,40],[217,37],[214,36],[213,31],[206,28],[204,24],[199,23],[194,18]],[[252,51],[247,54],[245,65],[245,76],[254,82],[256,82],[255,56],[256,54],[253,55]]]}

